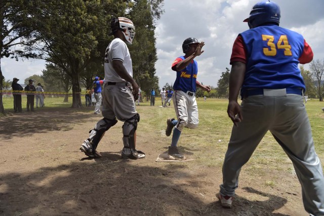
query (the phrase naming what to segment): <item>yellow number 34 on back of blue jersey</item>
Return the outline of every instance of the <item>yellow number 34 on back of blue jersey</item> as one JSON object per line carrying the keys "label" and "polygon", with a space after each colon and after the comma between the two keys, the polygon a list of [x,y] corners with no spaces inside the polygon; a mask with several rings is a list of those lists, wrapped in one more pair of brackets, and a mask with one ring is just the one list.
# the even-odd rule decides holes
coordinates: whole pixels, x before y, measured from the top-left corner
{"label": "yellow number 34 on back of blue jersey", "polygon": [[273,35],[266,35],[262,34],[262,40],[268,41],[267,48],[263,48],[263,53],[266,56],[275,56],[277,54],[277,49],[284,49],[284,54],[287,56],[292,55],[292,46],[289,45],[287,35],[281,35],[278,42],[277,42],[277,48],[274,44],[274,37]]}

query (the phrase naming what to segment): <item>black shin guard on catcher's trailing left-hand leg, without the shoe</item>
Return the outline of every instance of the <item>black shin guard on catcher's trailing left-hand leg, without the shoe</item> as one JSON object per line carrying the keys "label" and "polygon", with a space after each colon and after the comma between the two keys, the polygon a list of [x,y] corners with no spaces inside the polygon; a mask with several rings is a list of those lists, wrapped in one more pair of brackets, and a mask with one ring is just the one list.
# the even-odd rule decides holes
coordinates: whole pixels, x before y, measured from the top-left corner
{"label": "black shin guard on catcher's trailing left-hand leg, without the shoe", "polygon": [[89,131],[90,136],[89,136],[88,140],[90,141],[90,143],[92,145],[93,152],[96,151],[98,143],[101,140],[101,138],[103,137],[103,135],[105,134],[105,132],[109,128],[114,126],[117,122],[118,122],[117,119],[103,118],[99,122],[97,122],[94,129]]}

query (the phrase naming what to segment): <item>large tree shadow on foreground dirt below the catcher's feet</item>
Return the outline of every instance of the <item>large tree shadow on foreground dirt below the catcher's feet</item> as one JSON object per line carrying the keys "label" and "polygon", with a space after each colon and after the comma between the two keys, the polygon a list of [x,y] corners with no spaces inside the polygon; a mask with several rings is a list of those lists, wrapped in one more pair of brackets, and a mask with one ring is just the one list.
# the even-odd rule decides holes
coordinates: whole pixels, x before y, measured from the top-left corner
{"label": "large tree shadow on foreground dirt below the catcher's feet", "polygon": [[[140,160],[120,159],[114,152],[102,155],[94,161],[0,175],[0,214],[272,215],[287,202],[249,188],[268,199],[250,201],[236,196],[233,208],[223,209],[218,201],[206,204],[188,190],[205,183],[190,179],[182,165],[163,169],[141,166]],[[174,183],[176,178],[190,179],[190,185]]]}

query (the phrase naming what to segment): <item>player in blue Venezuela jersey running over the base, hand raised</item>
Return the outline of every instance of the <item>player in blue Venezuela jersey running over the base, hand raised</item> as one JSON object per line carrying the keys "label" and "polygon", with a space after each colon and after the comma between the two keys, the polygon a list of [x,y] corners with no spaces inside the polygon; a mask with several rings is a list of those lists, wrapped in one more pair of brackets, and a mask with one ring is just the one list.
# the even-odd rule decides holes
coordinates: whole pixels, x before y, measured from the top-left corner
{"label": "player in blue Venezuela jersey running over the base, hand raised", "polygon": [[209,86],[201,85],[197,79],[198,65],[194,60],[201,55],[204,42],[198,42],[195,38],[187,38],[182,44],[184,56],[176,58],[172,64],[172,70],[177,71],[177,78],[173,85],[172,96],[178,120],[168,118],[166,135],[170,136],[173,130],[171,146],[168,154],[176,159],[183,159],[184,156],[177,149],[178,140],[184,127],[195,129],[198,126],[198,107],[196,102],[196,86],[210,92]]}

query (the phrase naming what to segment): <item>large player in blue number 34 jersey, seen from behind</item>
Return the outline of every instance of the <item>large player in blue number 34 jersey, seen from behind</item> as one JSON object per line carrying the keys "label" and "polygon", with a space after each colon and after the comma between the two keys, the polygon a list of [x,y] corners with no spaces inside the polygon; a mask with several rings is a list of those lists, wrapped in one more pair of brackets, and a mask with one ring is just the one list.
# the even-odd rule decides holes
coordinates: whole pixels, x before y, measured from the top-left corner
{"label": "large player in blue number 34 jersey, seen from behind", "polygon": [[[324,215],[324,177],[314,150],[305,105],[305,84],[298,63],[313,52],[302,35],[279,27],[274,2],[257,3],[248,19],[250,30],[236,38],[230,59],[229,103],[232,134],[223,164],[219,199],[230,208],[241,167],[269,130],[292,160],[302,185],[304,207]],[[240,91],[241,105],[237,102]]]}

